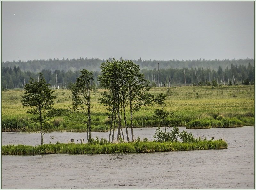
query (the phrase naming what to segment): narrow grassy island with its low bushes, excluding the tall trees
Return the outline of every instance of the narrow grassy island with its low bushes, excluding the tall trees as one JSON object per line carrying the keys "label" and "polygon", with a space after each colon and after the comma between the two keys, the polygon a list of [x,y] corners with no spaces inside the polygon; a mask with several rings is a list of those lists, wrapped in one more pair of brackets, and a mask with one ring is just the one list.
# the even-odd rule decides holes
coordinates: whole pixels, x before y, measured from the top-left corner
{"label": "narrow grassy island with its low bushes, excluding the tall trees", "polygon": [[[113,154],[113,153],[150,153],[150,152],[170,152],[186,150],[209,150],[226,149],[227,143],[222,140],[207,140],[195,138],[192,133],[186,131],[179,132],[174,127],[170,132],[162,131],[158,127],[154,141],[140,137],[134,142],[124,143],[120,138],[116,143],[110,143],[107,139],[91,138],[85,144],[59,143],[44,144],[38,146],[28,145],[6,145],[2,146],[2,155],[35,155],[35,154]],[[178,139],[182,142],[179,142]]]}

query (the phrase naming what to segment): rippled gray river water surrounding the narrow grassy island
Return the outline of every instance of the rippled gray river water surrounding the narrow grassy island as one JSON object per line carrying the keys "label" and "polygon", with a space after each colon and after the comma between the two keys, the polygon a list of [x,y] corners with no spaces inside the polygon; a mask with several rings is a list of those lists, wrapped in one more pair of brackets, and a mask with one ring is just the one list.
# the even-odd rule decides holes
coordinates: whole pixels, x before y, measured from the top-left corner
{"label": "rippled gray river water surrounding the narrow grassy island", "polygon": [[[254,126],[180,131],[222,138],[224,150],[162,153],[2,156],[2,188],[255,188]],[[153,140],[156,128],[134,128]],[[117,132],[115,132],[117,135]],[[129,130],[130,134],[130,130]],[[51,133],[44,143],[80,143],[86,133]],[[107,138],[109,133],[92,133]],[[77,141],[78,140],[78,141]],[[38,145],[38,133],[2,133],[2,145]]]}

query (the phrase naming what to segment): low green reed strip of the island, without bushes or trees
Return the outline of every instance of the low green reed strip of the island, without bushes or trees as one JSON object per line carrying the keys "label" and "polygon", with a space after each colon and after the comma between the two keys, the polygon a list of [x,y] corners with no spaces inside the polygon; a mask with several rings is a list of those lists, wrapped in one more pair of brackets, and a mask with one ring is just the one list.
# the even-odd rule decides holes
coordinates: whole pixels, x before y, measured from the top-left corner
{"label": "low green reed strip of the island, without bushes or trees", "polygon": [[36,154],[113,154],[113,153],[149,153],[188,150],[226,149],[223,140],[204,140],[194,143],[180,142],[134,142],[116,144],[44,144],[38,146],[7,145],[2,146],[2,155]]}

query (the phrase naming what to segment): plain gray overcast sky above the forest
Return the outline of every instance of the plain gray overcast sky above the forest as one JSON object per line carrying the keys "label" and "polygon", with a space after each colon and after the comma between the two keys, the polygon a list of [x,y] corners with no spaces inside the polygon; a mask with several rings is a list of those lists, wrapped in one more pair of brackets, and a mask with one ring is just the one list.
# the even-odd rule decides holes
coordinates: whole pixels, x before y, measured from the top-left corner
{"label": "plain gray overcast sky above the forest", "polygon": [[121,56],[254,58],[254,1],[2,1],[2,61]]}

